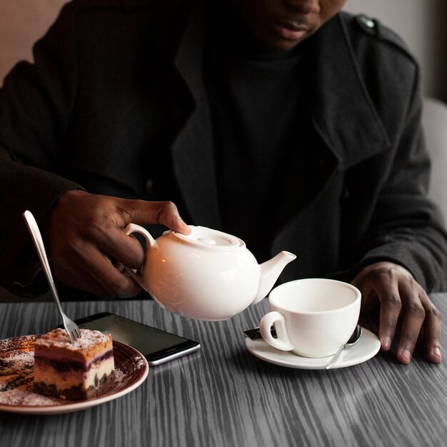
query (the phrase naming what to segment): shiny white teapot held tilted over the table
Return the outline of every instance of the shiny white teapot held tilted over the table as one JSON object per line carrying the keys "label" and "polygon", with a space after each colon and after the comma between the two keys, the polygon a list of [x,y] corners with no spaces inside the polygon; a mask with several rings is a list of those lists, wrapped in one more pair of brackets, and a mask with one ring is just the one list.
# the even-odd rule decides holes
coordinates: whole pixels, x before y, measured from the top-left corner
{"label": "shiny white teapot held tilted over the table", "polygon": [[165,231],[156,240],[145,228],[129,224],[126,233],[146,239],[142,288],[168,311],[199,320],[226,320],[264,298],[287,263],[296,256],[281,251],[258,265],[241,239],[203,226],[191,234]]}

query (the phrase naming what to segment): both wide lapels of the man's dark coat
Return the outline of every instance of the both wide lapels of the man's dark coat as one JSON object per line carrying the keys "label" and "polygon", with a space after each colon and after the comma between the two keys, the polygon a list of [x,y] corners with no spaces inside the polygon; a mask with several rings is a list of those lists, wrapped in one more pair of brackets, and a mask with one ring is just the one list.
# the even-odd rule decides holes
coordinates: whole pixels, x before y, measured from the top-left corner
{"label": "both wide lapels of the man's dark coat", "polygon": [[[202,77],[205,11],[200,2],[195,5],[174,60],[191,93],[194,110],[176,137],[172,154],[176,178],[191,217],[201,225],[220,228],[211,116]],[[346,15],[338,14],[308,42],[315,64],[313,125],[341,169],[390,144],[361,80],[345,22]]]}

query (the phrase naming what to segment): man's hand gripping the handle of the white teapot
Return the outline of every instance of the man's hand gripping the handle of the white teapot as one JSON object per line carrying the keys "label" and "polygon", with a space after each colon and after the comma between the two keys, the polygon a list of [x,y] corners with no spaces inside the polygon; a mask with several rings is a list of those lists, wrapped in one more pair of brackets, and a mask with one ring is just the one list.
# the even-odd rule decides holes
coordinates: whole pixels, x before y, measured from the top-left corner
{"label": "man's hand gripping the handle of the white teapot", "polygon": [[135,296],[141,291],[139,285],[114,266],[139,268],[144,261],[140,243],[124,232],[131,222],[191,232],[172,202],[117,199],[84,191],[64,194],[46,226],[56,278],[97,296]]}

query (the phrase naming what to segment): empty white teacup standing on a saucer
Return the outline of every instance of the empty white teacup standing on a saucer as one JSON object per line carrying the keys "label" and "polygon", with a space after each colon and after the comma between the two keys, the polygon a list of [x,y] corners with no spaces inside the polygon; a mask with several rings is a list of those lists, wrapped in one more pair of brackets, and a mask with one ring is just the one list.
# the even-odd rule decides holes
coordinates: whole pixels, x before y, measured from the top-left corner
{"label": "empty white teacup standing on a saucer", "polygon": [[360,304],[358,288],[341,281],[307,278],[283,283],[268,296],[271,312],[259,323],[261,336],[273,348],[298,356],[332,356],[356,328]]}

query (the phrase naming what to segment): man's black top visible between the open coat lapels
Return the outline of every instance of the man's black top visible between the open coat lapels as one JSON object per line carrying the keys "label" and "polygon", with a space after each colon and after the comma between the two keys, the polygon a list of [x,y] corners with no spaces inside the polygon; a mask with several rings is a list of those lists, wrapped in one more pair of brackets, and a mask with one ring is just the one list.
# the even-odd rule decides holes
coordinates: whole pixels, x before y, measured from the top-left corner
{"label": "man's black top visible between the open coat lapels", "polygon": [[241,33],[228,36],[214,27],[204,79],[223,228],[263,261],[271,257],[266,241],[283,224],[284,209],[299,206],[306,183],[300,156],[303,54],[300,46],[271,54]]}

